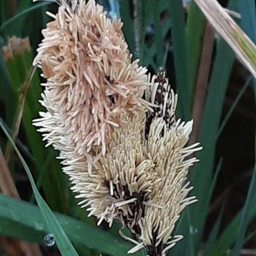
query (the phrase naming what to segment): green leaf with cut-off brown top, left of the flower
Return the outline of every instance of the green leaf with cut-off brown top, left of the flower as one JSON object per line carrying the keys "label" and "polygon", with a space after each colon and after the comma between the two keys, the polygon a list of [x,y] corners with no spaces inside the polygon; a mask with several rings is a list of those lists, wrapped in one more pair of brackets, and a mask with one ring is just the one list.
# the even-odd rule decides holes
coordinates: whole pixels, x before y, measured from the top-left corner
{"label": "green leaf with cut-off brown top, left of the flower", "polygon": [[[30,77],[29,70],[31,69],[33,61],[29,40],[28,38],[21,40],[15,37],[10,38],[8,45],[3,49],[5,52],[17,52],[16,54],[13,54],[13,56],[9,54],[12,57],[6,57],[5,61],[13,90],[16,93],[16,96],[20,98],[23,95],[20,88],[24,87],[23,84],[26,84],[26,80]],[[22,120],[29,142],[29,148],[35,159],[35,165],[33,165],[32,172],[38,176],[42,176],[41,172],[44,171],[42,166],[50,153],[49,148],[44,147],[41,135],[36,131],[36,128],[31,125],[32,120],[36,118],[38,112],[42,110],[41,105],[38,103],[41,90],[39,76],[38,73],[35,72],[27,90],[26,99],[22,97],[22,99],[25,100]],[[12,108],[17,108],[17,113],[21,113],[20,106],[14,105]],[[42,180],[42,189],[47,204],[49,204],[51,209],[67,213],[67,182],[64,174],[61,172],[60,164],[55,159],[51,161],[50,167],[47,168],[47,172],[45,172],[44,179]]]}

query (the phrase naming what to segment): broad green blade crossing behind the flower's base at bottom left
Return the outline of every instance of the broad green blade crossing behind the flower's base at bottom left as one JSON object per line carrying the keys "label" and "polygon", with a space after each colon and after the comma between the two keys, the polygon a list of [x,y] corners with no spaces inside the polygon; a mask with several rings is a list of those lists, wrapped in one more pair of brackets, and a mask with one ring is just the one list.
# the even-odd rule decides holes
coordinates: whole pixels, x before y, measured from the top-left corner
{"label": "broad green blade crossing behind the flower's base at bottom left", "polygon": [[[113,236],[99,228],[54,212],[55,217],[73,244],[98,249],[112,256],[127,255],[133,244],[119,236]],[[24,201],[18,201],[0,194],[0,234],[27,241],[43,243],[44,236],[50,232],[40,209]],[[134,253],[133,256],[141,256]]]}

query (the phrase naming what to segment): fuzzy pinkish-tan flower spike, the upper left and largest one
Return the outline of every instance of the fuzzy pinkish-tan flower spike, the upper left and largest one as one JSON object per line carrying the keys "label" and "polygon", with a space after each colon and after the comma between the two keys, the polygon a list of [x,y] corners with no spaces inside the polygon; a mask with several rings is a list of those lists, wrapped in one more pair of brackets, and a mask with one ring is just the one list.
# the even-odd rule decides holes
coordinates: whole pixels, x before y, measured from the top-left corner
{"label": "fuzzy pinkish-tan flower spike, the upper left and largest one", "polygon": [[35,125],[48,145],[92,162],[105,154],[122,112],[148,108],[142,99],[147,70],[131,61],[121,21],[106,17],[94,0],[61,0],[58,13],[47,14],[53,20],[42,30],[34,61],[47,79],[41,101],[47,113]]}

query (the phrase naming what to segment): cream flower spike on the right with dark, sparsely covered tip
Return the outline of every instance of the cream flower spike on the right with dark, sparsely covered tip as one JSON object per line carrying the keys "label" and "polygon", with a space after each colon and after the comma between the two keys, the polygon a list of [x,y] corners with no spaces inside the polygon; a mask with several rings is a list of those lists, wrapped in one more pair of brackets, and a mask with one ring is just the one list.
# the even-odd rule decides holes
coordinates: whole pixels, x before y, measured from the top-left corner
{"label": "cream flower spike on the right with dark, sparsely covered tip", "polygon": [[148,112],[144,141],[144,154],[155,165],[155,180],[150,199],[144,203],[144,216],[138,223],[141,243],[130,252],[146,247],[149,256],[165,256],[183,238],[172,236],[180,212],[197,201],[195,196],[186,197],[192,190],[186,179],[189,167],[198,161],[189,155],[202,147],[198,147],[199,143],[186,146],[193,122],[175,120],[177,95],[170,89],[163,70],[153,76],[146,99],[159,105],[158,111]]}

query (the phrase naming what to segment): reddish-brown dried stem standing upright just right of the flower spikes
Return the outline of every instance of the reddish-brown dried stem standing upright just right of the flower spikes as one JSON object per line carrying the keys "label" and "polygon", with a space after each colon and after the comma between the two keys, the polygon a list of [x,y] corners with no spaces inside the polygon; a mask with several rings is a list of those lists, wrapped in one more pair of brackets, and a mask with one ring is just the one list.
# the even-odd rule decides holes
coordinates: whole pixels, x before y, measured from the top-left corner
{"label": "reddish-brown dried stem standing upright just right of the flower spikes", "polygon": [[194,119],[194,126],[189,139],[190,144],[195,143],[198,139],[200,123],[204,109],[204,102],[208,88],[213,43],[214,31],[211,25],[207,23],[204,31],[201,60],[199,64],[198,79],[195,86],[195,97],[192,107],[192,119]]}

